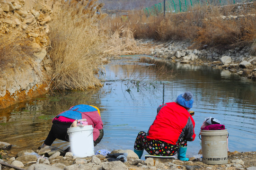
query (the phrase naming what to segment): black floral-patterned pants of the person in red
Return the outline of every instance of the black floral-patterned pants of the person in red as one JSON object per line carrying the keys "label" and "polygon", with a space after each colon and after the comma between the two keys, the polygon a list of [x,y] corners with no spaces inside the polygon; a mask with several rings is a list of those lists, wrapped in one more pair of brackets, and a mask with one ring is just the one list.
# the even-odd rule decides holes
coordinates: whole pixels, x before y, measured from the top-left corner
{"label": "black floral-patterned pants of the person in red", "polygon": [[183,138],[178,141],[177,144],[168,144],[160,140],[149,140],[144,131],[139,132],[135,143],[134,149],[143,150],[145,149],[150,155],[160,155],[160,156],[172,156],[178,152],[178,149],[187,146],[187,141]]}

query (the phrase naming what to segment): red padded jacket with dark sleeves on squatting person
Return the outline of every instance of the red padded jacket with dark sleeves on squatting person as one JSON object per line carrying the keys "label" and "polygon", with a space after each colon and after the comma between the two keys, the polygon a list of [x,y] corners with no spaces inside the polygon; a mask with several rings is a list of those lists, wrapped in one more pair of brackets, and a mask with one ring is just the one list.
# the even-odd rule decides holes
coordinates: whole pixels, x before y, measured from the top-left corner
{"label": "red padded jacket with dark sleeves on squatting person", "polygon": [[189,112],[176,102],[162,104],[158,114],[148,131],[148,140],[161,140],[169,144],[177,144],[183,137],[194,141],[194,119]]}

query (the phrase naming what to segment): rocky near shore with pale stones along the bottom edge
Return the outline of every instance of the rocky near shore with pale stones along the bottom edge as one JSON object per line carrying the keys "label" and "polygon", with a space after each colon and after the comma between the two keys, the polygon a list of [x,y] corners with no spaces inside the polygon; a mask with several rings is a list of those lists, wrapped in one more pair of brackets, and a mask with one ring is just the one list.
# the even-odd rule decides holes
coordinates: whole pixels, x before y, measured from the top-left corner
{"label": "rocky near shore with pale stones along the bottom edge", "polygon": [[109,161],[102,154],[79,158],[54,146],[21,151],[16,155],[0,150],[0,170],[256,170],[256,152],[228,153],[228,163],[222,165],[208,165],[202,158],[195,157],[189,161],[177,158],[141,160],[132,150],[114,150],[111,153],[127,153],[127,160]]}

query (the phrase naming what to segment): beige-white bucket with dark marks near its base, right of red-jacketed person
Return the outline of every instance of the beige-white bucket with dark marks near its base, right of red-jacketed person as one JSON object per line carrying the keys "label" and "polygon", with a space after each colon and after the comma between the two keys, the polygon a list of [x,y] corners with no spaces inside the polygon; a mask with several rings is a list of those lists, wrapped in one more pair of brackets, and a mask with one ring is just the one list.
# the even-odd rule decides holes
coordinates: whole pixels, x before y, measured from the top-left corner
{"label": "beige-white bucket with dark marks near its base, right of red-jacketed person", "polygon": [[227,129],[201,130],[200,135],[202,136],[203,163],[210,165],[228,163]]}

